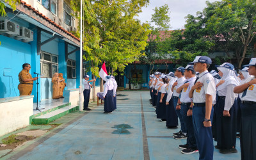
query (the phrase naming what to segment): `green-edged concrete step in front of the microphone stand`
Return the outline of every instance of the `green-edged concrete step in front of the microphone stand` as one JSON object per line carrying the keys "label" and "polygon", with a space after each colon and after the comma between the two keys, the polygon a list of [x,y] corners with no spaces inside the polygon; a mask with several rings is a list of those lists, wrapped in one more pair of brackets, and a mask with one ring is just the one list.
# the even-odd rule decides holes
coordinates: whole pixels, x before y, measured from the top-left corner
{"label": "green-edged concrete step in front of the microphone stand", "polygon": [[51,111],[41,116],[36,116],[32,119],[33,124],[49,124],[50,122],[61,118],[61,116],[65,116],[68,113],[76,111],[79,109],[79,106],[66,106],[64,108],[56,109],[55,111]]}

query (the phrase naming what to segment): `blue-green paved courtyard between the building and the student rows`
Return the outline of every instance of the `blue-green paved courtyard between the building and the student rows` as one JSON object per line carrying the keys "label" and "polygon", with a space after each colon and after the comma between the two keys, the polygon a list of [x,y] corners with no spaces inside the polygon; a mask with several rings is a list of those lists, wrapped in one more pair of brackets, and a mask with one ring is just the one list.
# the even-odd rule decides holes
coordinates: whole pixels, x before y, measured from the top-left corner
{"label": "blue-green paved courtyard between the building and the student rows", "polygon": [[[178,146],[186,140],[172,137],[180,128],[166,129],[149,98],[148,91],[118,92],[112,114],[103,114],[99,106],[10,159],[198,159],[198,153],[181,154]],[[239,139],[236,148],[237,154],[214,150],[214,159],[241,159]]]}

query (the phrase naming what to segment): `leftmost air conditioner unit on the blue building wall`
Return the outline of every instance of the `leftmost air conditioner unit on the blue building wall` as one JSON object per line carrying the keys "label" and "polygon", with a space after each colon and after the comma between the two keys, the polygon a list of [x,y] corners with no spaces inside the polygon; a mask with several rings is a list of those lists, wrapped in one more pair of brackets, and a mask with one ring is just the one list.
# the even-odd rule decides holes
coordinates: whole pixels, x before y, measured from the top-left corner
{"label": "leftmost air conditioner unit on the blue building wall", "polygon": [[19,24],[11,22],[8,19],[0,19],[0,33],[6,33],[10,36],[17,36],[20,32]]}

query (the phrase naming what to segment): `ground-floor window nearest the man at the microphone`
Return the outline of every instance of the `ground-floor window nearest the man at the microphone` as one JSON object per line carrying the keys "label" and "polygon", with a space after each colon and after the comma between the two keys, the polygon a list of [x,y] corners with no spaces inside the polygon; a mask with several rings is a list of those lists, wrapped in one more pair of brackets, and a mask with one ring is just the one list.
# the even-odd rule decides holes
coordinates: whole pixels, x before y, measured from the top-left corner
{"label": "ground-floor window nearest the man at the microphone", "polygon": [[58,56],[48,53],[41,52],[41,74],[43,77],[51,78],[52,75],[58,72]]}

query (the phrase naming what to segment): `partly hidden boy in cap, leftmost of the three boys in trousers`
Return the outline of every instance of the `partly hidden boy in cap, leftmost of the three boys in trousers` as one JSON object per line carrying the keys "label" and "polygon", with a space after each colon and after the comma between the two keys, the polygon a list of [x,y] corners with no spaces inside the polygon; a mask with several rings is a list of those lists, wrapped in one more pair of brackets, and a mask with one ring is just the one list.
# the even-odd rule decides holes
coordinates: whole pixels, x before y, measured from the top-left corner
{"label": "partly hidden boy in cap, leftmost of the three boys in trousers", "polygon": [[180,119],[180,131],[173,133],[174,136],[182,136],[183,138],[186,138],[186,127],[184,124],[184,120],[180,114],[180,104],[178,104],[178,99],[180,96],[180,93],[177,93],[176,89],[179,88],[184,84],[186,81],[186,78],[184,77],[185,68],[179,67],[175,69],[174,75],[177,77],[177,81],[173,83],[172,85],[172,92],[173,92],[173,106],[175,108],[175,111]]}

